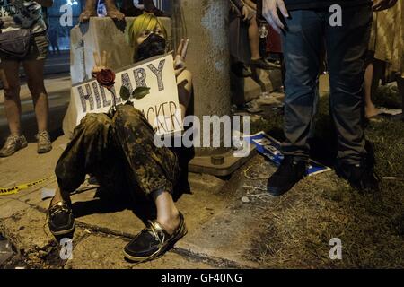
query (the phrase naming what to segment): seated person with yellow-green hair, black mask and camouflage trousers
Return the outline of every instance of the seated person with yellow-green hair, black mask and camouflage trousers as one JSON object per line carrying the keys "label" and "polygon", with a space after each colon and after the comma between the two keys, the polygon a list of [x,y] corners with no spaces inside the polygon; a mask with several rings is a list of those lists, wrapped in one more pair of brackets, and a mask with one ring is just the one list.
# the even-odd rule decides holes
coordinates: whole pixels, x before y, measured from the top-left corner
{"label": "seated person with yellow-green hair, black mask and camouflage trousers", "polygon": [[[152,13],[136,17],[128,34],[135,62],[166,52],[167,32]],[[181,40],[174,62],[183,117],[192,109],[192,76],[184,63],[187,47],[188,41]],[[93,74],[105,72],[106,54],[104,51],[101,60],[95,57]],[[57,161],[59,188],[48,209],[49,230],[55,236],[75,230],[70,193],[80,187],[86,174],[92,174],[113,196],[124,193],[136,201],[153,201],[156,218],[127,244],[124,255],[136,262],[161,256],[187,233],[184,217],[173,200],[177,189],[186,188],[188,183],[192,154],[181,151],[157,147],[153,127],[132,104],[117,106],[113,116],[87,114],[75,127],[72,141]]]}

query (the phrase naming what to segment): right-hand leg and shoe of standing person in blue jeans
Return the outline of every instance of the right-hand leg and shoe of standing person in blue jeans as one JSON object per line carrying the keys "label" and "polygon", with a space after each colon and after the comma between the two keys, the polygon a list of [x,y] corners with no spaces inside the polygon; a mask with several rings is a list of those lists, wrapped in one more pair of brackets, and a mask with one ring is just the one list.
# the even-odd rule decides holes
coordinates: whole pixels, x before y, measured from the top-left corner
{"label": "right-hand leg and shoe of standing person in blue jeans", "polygon": [[366,166],[364,63],[370,37],[370,6],[342,10],[342,26],[325,24],[330,106],[338,134],[338,175],[360,189],[376,187]]}

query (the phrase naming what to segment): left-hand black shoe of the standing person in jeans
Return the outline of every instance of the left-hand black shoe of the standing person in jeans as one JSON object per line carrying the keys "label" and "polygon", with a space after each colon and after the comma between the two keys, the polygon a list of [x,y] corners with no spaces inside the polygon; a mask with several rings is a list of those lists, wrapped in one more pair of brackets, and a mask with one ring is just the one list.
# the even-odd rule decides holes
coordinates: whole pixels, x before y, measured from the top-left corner
{"label": "left-hand black shoe of the standing person in jeans", "polygon": [[307,174],[305,161],[294,161],[285,156],[277,171],[268,179],[267,190],[272,196],[281,196]]}

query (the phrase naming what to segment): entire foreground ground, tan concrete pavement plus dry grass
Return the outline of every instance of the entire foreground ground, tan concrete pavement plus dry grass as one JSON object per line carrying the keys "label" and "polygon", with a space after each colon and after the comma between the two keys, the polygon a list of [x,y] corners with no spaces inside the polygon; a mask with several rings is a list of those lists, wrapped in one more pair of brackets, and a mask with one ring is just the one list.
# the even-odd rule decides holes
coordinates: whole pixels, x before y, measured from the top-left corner
{"label": "entire foreground ground, tan concrete pavement plus dry grass", "polygon": [[[376,99],[381,102],[400,107],[394,92]],[[328,106],[328,98],[321,98],[312,157],[332,166],[335,137]],[[282,109],[267,106],[254,116],[253,132],[261,130],[282,140]],[[359,194],[328,171],[304,178],[284,196],[270,196],[266,184],[276,168],[261,155],[231,178],[190,174],[193,194],[178,202],[189,234],[164,257],[141,265],[124,261],[121,249],[143,223],[125,207],[105,208],[94,190],[73,196],[78,228],[75,257],[67,262],[46,230],[48,200],[40,199],[41,188],[56,187],[55,180],[0,197],[0,233],[17,253],[0,268],[403,268],[404,123],[375,118],[366,135],[374,144],[376,172],[385,178],[380,192]],[[0,187],[10,175],[19,183],[51,174],[64,143],[66,138],[57,138],[55,149],[43,156],[30,143],[1,160]],[[35,164],[26,161],[30,157]],[[341,240],[341,260],[329,258],[333,238]]]}

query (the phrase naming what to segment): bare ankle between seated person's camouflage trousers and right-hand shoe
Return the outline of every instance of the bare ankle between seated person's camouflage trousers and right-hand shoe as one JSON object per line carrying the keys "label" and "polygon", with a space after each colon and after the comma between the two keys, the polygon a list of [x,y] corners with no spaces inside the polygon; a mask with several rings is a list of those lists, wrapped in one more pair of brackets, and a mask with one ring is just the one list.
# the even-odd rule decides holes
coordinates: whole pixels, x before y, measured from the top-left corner
{"label": "bare ankle between seated person's camouflage trousers and right-hand shoe", "polygon": [[152,196],[157,208],[157,222],[162,224],[164,230],[172,234],[180,225],[180,213],[171,194],[166,191],[156,191]]}

